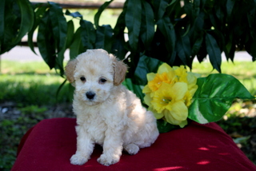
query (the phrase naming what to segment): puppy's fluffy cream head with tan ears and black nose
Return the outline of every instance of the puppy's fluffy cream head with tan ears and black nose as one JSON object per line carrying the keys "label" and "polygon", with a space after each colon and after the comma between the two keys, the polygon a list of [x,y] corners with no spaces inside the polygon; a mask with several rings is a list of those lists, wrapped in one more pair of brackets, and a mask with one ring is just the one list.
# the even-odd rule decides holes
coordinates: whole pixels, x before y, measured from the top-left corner
{"label": "puppy's fluffy cream head with tan ears and black nose", "polygon": [[126,77],[127,67],[105,50],[87,50],[66,65],[66,78],[75,87],[75,96],[87,105],[106,101],[114,86]]}

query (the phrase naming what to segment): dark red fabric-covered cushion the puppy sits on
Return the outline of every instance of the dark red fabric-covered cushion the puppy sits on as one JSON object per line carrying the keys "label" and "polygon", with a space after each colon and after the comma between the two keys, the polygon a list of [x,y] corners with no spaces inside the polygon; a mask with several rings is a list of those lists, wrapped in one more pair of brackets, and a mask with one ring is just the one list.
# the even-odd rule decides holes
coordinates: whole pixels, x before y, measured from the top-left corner
{"label": "dark red fabric-covered cushion the puppy sits on", "polygon": [[256,170],[232,139],[215,123],[192,122],[184,129],[161,133],[149,148],[134,156],[123,153],[114,165],[97,162],[102,147],[85,165],[71,165],[76,151],[75,119],[55,118],[39,122],[22,138],[13,171],[63,170]]}

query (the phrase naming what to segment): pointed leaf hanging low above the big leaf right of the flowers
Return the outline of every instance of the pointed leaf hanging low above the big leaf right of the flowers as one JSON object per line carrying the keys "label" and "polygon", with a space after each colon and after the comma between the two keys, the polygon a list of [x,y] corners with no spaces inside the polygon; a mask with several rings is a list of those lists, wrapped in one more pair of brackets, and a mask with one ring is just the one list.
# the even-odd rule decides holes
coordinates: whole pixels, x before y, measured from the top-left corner
{"label": "pointed leaf hanging low above the big leaf right of the flowers", "polygon": [[209,54],[210,63],[214,66],[214,69],[221,73],[222,52],[215,38],[208,33],[206,33],[206,50]]}

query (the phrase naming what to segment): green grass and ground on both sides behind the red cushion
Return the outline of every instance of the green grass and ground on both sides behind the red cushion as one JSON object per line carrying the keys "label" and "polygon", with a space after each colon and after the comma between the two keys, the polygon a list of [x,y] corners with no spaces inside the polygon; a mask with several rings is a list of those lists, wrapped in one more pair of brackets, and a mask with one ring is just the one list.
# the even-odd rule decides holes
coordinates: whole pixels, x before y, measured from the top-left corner
{"label": "green grass and ground on both sides behind the red cushion", "polygon": [[[250,93],[256,95],[255,66],[255,62],[223,62],[222,73],[238,78]],[[0,111],[7,109],[10,113],[7,111],[3,115],[5,117],[0,116],[0,170],[10,170],[22,135],[38,121],[54,117],[52,113],[58,109],[58,105],[70,105],[73,89],[66,84],[57,97],[59,85],[65,79],[58,76],[54,70],[50,71],[45,62],[2,61],[1,70]],[[202,76],[217,73],[212,70],[209,62],[194,62],[192,71]],[[12,105],[6,107],[7,103]],[[239,113],[243,108],[255,108],[254,104],[255,101],[236,101],[225,119],[218,121],[218,124],[234,137],[247,157],[256,164],[256,153],[252,152],[253,147],[250,145],[256,133],[256,117]],[[65,109],[62,107],[62,110]],[[72,113],[70,110],[61,112]]]}

